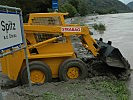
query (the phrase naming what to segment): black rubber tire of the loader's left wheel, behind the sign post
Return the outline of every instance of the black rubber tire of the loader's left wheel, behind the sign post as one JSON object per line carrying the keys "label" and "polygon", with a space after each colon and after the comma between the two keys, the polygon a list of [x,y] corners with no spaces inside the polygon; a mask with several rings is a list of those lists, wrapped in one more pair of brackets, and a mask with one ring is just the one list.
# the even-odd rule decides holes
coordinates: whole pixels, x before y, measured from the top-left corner
{"label": "black rubber tire of the loader's left wheel, behind the sign post", "polygon": [[[29,63],[30,71],[37,69],[45,73],[45,82],[51,82],[52,81],[52,72],[49,66],[41,61],[33,61]],[[21,74],[21,83],[27,84],[28,83],[28,75],[27,75],[27,68],[24,67]],[[39,83],[38,83],[39,84]]]}

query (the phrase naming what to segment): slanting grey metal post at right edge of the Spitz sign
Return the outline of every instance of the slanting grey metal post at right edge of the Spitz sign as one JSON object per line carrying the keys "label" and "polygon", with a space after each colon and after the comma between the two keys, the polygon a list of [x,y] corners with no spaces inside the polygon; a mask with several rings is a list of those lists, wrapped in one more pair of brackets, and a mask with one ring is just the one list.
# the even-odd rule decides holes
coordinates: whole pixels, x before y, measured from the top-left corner
{"label": "slanting grey metal post at right edge of the Spitz sign", "polygon": [[29,61],[28,61],[28,53],[27,53],[27,44],[26,44],[26,39],[25,39],[25,36],[24,36],[24,27],[23,27],[23,18],[22,18],[22,11],[20,11],[20,17],[21,17],[21,27],[22,27],[22,35],[23,35],[23,42],[24,42],[24,53],[25,53],[25,59],[26,59],[26,67],[27,67],[27,73],[28,73],[28,80],[29,80],[29,88],[30,88],[30,91],[32,92],[32,84],[31,84],[31,80],[30,80],[30,68],[29,68]]}

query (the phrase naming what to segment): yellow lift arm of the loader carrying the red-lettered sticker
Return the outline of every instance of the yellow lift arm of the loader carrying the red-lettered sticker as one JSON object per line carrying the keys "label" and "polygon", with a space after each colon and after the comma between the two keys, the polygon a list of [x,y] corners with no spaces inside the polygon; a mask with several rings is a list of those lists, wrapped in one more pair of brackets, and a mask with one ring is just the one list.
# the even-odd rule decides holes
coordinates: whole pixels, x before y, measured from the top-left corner
{"label": "yellow lift arm of the loader carrying the red-lettered sticker", "polygon": [[[81,28],[81,32],[62,32],[62,27],[63,26],[24,25],[24,29],[27,34],[33,34],[34,32],[39,32],[39,33],[45,34],[45,32],[49,32],[51,34],[58,33],[63,36],[66,36],[66,37],[70,37],[71,35],[81,35],[83,38],[82,41],[84,42],[83,46],[85,46],[85,48],[87,48],[89,51],[91,51],[91,53],[95,57],[98,56],[98,54],[99,54],[98,53],[98,51],[99,51],[98,45],[97,45],[96,41],[91,37],[88,27],[76,26],[76,27]],[[64,27],[66,27],[66,26],[64,26]],[[74,25],[71,27],[74,27]],[[53,38],[53,39],[56,39],[56,38]],[[48,41],[48,40],[46,40],[46,41]],[[42,43],[45,43],[46,41],[43,41]],[[40,43],[38,43],[38,44],[40,44]],[[35,45],[37,45],[37,44],[35,44]],[[29,49],[31,47],[35,47],[35,45],[30,46]]]}

